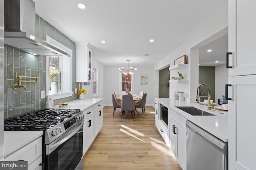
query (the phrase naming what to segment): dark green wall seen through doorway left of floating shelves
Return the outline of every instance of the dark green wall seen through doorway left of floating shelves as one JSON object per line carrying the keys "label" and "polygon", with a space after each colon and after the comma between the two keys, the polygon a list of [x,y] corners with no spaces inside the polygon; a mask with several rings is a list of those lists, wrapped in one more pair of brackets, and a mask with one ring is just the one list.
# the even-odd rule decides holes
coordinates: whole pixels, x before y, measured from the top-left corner
{"label": "dark green wall seen through doorway left of floating shelves", "polygon": [[159,71],[159,96],[158,98],[169,98],[170,70],[169,67]]}

